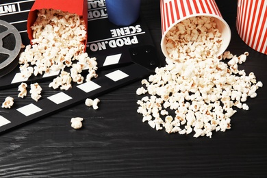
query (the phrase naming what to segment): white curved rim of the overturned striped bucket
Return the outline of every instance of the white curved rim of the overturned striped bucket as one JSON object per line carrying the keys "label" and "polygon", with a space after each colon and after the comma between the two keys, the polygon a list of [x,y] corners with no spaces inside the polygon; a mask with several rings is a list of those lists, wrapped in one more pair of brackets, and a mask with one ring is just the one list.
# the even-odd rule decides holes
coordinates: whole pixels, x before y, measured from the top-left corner
{"label": "white curved rim of the overturned striped bucket", "polygon": [[[161,0],[161,1],[163,1],[163,0]],[[162,49],[162,53],[164,54],[164,56],[166,58],[170,59],[168,57],[168,53],[166,51],[166,39],[165,39],[166,34],[168,33],[168,31],[170,31],[171,28],[173,28],[175,25],[177,25],[177,23],[180,23],[181,21],[184,21],[184,20],[191,18],[191,17],[194,17],[194,16],[211,16],[211,17],[215,18],[214,21],[216,22],[216,25],[217,25],[216,28],[222,34],[222,39],[223,39],[223,43],[220,45],[220,48],[216,52],[216,54],[219,56],[225,52],[225,50],[227,49],[227,47],[229,46],[229,43],[231,41],[231,28],[229,27],[228,23],[225,21],[225,19],[223,19],[223,17],[218,16],[216,14],[197,13],[197,14],[190,14],[188,16],[180,18],[179,20],[175,21],[175,23],[171,24],[170,27],[166,28],[165,31],[162,29],[162,40],[160,42],[160,46]]]}

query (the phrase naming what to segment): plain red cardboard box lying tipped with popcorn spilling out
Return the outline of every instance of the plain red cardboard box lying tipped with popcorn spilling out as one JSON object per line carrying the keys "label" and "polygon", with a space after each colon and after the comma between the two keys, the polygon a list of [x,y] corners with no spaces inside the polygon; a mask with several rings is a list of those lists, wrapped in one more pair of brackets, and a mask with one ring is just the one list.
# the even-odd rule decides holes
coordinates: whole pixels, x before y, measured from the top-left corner
{"label": "plain red cardboard box lying tipped with popcorn spilling out", "polygon": [[[27,18],[27,33],[29,40],[33,39],[31,26],[34,24],[37,18],[37,10],[41,9],[53,9],[61,10],[63,12],[69,12],[77,14],[84,18],[86,24],[86,31],[88,30],[88,3],[87,0],[36,0],[32,5],[31,10]],[[87,37],[86,37],[87,38]],[[87,39],[84,41],[86,46]],[[86,48],[84,49],[86,50]]]}

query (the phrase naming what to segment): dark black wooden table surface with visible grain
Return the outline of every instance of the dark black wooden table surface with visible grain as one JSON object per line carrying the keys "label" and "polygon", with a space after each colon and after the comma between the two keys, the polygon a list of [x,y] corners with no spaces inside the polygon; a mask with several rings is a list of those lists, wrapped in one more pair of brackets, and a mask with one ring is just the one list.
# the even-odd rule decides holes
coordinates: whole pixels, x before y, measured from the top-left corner
{"label": "dark black wooden table surface with visible grain", "polygon": [[[249,51],[240,66],[267,84],[267,55],[242,42],[235,29],[237,0],[216,1],[232,31],[228,50]],[[142,14],[160,51],[160,1],[142,1]],[[42,96],[53,91],[40,84]],[[238,110],[232,128],[212,138],[155,131],[136,112],[140,81],[104,94],[99,110],[84,103],[0,135],[0,177],[266,177],[266,86]],[[0,101],[17,88],[0,91]],[[27,99],[24,100],[27,102]],[[7,112],[3,108],[0,114]],[[84,127],[71,127],[71,117]]]}

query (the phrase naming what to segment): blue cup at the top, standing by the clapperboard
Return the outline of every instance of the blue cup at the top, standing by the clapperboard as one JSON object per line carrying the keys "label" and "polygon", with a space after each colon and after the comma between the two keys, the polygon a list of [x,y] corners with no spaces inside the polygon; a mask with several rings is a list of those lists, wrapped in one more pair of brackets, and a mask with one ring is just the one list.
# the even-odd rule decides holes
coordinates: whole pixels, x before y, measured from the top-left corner
{"label": "blue cup at the top, standing by the clapperboard", "polygon": [[135,23],[140,14],[141,0],[105,0],[110,22],[118,26]]}

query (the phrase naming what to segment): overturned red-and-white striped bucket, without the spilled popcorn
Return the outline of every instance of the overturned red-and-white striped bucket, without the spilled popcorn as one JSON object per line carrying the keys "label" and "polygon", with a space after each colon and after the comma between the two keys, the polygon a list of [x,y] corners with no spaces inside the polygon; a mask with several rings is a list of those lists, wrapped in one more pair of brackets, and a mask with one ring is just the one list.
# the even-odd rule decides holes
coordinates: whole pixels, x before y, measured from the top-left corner
{"label": "overturned red-and-white striped bucket, without the spilled popcorn", "polygon": [[177,25],[177,23],[193,16],[211,16],[215,18],[214,22],[216,23],[219,32],[222,34],[221,37],[223,39],[220,48],[216,52],[217,55],[223,54],[225,49],[229,46],[231,29],[220,14],[215,0],[161,0],[160,10],[162,18],[161,47],[162,53],[166,58],[169,58],[166,50],[166,34],[172,27]]}

